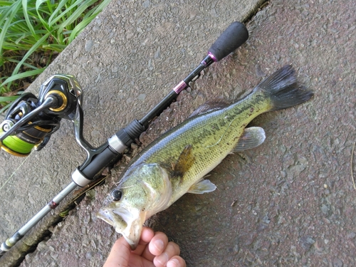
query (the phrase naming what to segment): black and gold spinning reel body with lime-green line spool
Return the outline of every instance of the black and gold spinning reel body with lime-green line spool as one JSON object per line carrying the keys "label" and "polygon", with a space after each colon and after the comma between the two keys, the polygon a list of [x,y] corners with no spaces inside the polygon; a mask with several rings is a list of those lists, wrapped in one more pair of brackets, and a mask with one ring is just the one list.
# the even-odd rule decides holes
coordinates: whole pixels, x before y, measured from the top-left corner
{"label": "black and gold spinning reel body with lime-green line spool", "polygon": [[41,150],[61,119],[73,120],[83,91],[72,75],[53,75],[41,85],[38,98],[24,93],[6,113],[0,125],[1,150],[26,157],[31,150]]}

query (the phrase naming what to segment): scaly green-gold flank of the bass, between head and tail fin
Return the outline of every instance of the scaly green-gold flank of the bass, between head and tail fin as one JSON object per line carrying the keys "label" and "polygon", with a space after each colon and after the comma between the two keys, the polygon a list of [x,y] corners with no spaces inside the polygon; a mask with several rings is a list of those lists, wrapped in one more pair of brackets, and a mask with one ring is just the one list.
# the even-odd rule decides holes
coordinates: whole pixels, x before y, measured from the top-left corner
{"label": "scaly green-gold flank of the bass, between head and tail fin", "polygon": [[[176,201],[192,184],[204,177],[239,142],[244,128],[253,118],[266,112],[271,104],[261,94],[248,95],[239,102],[221,110],[205,112],[169,130],[137,155],[132,168],[142,163],[174,164],[187,145],[192,145],[194,165],[184,174],[182,181],[172,182],[172,198]],[[184,186],[182,186],[184,184]]]}

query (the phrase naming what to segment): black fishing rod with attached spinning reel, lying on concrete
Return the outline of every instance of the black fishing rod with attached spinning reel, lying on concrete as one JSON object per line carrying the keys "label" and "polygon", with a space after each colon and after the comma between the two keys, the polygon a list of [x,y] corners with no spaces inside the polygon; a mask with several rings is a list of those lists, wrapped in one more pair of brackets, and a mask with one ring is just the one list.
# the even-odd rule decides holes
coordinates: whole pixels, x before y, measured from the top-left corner
{"label": "black fishing rod with attached spinning reel, lying on concrete", "polygon": [[61,120],[71,120],[75,140],[85,150],[83,164],[71,174],[72,182],[38,211],[24,226],[0,246],[0,257],[35,226],[49,211],[76,187],[85,187],[93,182],[95,175],[117,159],[122,152],[145,132],[150,122],[177,98],[192,80],[199,78],[201,70],[220,61],[239,48],[248,39],[244,24],[235,21],[221,33],[209,48],[207,56],[184,80],[178,83],[166,97],[152,108],[141,120],[132,120],[127,127],[112,135],[103,145],[93,147],[83,137],[83,90],[73,75],[53,75],[41,85],[38,98],[32,93],[23,93],[6,112],[0,125],[1,150],[11,155],[26,157],[31,150],[41,150],[48,144],[53,132],[59,129]]}

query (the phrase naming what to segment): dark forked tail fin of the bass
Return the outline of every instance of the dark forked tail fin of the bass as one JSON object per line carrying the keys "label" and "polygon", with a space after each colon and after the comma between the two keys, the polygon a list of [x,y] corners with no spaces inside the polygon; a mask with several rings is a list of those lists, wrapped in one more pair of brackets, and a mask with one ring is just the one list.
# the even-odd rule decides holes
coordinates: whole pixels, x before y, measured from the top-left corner
{"label": "dark forked tail fin of the bass", "polygon": [[261,91],[271,100],[271,110],[282,110],[304,103],[313,97],[313,91],[298,85],[295,70],[286,65],[262,81],[253,92]]}

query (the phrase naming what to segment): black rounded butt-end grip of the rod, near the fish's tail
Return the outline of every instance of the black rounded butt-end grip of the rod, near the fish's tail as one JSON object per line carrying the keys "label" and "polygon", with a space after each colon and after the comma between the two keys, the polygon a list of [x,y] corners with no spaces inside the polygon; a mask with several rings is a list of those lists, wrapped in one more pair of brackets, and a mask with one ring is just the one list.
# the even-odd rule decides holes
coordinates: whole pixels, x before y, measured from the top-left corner
{"label": "black rounded butt-end grip of the rod, near the fish's tail", "polygon": [[246,26],[239,21],[235,21],[221,33],[221,36],[217,38],[208,52],[213,54],[216,61],[220,61],[229,55],[229,53],[234,52],[236,48],[245,43],[247,39],[248,31]]}

